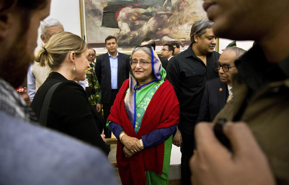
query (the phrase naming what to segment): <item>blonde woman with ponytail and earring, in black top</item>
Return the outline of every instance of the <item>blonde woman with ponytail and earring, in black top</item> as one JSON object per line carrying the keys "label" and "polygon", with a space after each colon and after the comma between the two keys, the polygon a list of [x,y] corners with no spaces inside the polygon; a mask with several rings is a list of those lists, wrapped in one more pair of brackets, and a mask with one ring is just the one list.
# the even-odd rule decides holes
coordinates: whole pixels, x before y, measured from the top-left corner
{"label": "blonde woman with ponytail and earring, in black top", "polygon": [[39,118],[48,90],[61,82],[51,96],[47,127],[99,147],[108,155],[108,146],[100,133],[104,120],[90,105],[82,86],[75,82],[85,80],[85,69],[89,67],[87,56],[87,44],[79,36],[69,32],[53,35],[35,53],[35,61],[40,66],[48,65],[52,72],[37,90],[31,108]]}

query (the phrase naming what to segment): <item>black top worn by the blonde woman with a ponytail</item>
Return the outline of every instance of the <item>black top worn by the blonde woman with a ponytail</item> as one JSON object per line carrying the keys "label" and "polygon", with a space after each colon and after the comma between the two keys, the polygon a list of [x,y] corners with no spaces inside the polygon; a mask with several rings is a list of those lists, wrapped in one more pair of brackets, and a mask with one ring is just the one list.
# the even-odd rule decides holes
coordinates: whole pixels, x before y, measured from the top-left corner
{"label": "black top worn by the blonde woman with a ponytail", "polygon": [[36,116],[40,117],[46,93],[56,82],[62,83],[57,86],[51,97],[47,127],[97,146],[108,155],[108,146],[100,136],[104,120],[89,103],[82,86],[76,82],[67,80],[57,72],[51,72],[37,90],[31,104]]}

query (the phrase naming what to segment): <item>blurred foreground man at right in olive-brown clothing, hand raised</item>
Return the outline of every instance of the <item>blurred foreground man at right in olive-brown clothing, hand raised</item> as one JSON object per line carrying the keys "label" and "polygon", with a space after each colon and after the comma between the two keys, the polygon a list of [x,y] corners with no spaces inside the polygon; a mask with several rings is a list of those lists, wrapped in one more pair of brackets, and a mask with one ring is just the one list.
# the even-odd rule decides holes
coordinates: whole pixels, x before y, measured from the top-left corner
{"label": "blurred foreground man at right in olive-brown clothing, hand raised", "polygon": [[213,125],[198,124],[190,163],[194,184],[289,183],[287,7],[287,0],[204,1],[216,36],[257,44],[235,61],[232,103],[214,120],[229,121],[223,132],[233,152],[216,139]]}

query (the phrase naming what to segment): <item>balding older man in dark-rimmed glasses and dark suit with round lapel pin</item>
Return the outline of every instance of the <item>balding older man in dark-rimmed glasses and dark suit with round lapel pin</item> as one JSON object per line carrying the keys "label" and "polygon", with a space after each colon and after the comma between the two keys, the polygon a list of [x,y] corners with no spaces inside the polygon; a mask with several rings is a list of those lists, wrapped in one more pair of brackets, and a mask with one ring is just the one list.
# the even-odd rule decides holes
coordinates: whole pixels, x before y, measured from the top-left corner
{"label": "balding older man in dark-rimmed glasses and dark suit with round lapel pin", "polygon": [[232,101],[232,73],[238,70],[235,67],[235,59],[243,55],[246,50],[239,47],[225,48],[216,67],[219,78],[208,80],[205,85],[204,94],[200,104],[197,123],[200,121],[213,121],[219,111]]}

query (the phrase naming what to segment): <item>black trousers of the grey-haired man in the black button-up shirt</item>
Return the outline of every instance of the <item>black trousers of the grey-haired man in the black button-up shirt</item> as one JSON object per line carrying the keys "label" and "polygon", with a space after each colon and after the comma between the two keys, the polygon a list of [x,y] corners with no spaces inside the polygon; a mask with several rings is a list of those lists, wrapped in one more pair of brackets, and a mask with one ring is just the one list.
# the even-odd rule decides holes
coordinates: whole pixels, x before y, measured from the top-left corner
{"label": "black trousers of the grey-haired man in the black button-up shirt", "polygon": [[189,167],[189,160],[194,153],[194,136],[188,135],[184,132],[182,134],[182,158],[181,158],[181,177],[182,185],[191,185],[191,171]]}

